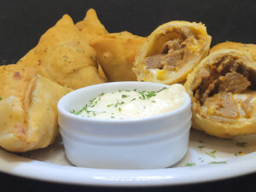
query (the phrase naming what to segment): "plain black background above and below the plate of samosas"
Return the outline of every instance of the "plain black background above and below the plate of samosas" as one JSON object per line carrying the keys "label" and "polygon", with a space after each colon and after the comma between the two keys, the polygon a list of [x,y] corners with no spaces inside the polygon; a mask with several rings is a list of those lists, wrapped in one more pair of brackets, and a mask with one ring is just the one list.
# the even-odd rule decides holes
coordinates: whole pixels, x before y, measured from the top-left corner
{"label": "plain black background above and below the plate of samosas", "polygon": [[[256,1],[253,0],[0,0],[0,65],[15,63],[64,14],[83,20],[97,11],[108,32],[129,31],[148,36],[169,20],[201,21],[212,45],[226,40],[256,44]],[[0,82],[1,83],[1,82]],[[1,120],[1,119],[0,119]],[[256,162],[255,162],[256,163]],[[241,165],[242,166],[242,165]],[[209,174],[211,174],[209,172]],[[256,191],[256,174],[212,183],[114,189],[39,182],[0,173],[0,191]]]}

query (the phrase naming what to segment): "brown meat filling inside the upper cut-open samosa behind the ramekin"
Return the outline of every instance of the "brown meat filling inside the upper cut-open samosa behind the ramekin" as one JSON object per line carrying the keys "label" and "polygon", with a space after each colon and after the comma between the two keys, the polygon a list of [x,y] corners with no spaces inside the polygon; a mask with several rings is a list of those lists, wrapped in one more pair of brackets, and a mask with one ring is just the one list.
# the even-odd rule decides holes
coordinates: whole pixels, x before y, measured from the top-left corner
{"label": "brown meat filling inside the upper cut-open samosa behind the ramekin", "polygon": [[[146,68],[168,68],[177,71],[184,64],[184,56],[186,46],[188,44],[197,44],[194,34],[187,28],[182,28],[180,31],[182,39],[175,38],[163,44],[162,51],[158,55],[151,55],[145,58]],[[187,51],[188,52],[188,51]]]}

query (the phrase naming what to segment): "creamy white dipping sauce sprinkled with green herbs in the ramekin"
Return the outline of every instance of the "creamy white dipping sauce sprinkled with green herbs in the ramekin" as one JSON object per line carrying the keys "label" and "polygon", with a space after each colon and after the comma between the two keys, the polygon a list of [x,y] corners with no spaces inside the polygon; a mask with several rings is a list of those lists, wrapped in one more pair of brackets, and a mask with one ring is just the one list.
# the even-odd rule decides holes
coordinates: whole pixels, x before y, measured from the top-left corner
{"label": "creamy white dipping sauce sprinkled with green herbs in the ramekin", "polygon": [[118,90],[102,93],[71,113],[96,119],[139,119],[180,108],[185,94],[182,84],[158,91]]}

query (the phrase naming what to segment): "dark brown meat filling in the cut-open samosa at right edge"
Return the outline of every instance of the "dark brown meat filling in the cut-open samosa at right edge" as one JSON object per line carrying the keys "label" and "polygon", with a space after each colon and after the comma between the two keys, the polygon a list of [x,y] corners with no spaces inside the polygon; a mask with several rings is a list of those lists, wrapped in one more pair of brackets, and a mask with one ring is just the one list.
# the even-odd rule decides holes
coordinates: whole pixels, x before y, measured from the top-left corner
{"label": "dark brown meat filling in the cut-open samosa at right edge", "polygon": [[[236,119],[239,117],[238,103],[245,117],[250,117],[252,113],[251,97],[244,102],[235,101],[232,94],[242,93],[251,85],[249,73],[252,70],[245,67],[238,59],[225,56],[212,66],[203,69],[194,87],[195,100],[199,106],[205,106],[207,111],[200,113],[210,113],[212,118]],[[253,73],[255,75],[255,73]],[[201,79],[201,80],[200,80]],[[195,106],[198,109],[198,106]]]}

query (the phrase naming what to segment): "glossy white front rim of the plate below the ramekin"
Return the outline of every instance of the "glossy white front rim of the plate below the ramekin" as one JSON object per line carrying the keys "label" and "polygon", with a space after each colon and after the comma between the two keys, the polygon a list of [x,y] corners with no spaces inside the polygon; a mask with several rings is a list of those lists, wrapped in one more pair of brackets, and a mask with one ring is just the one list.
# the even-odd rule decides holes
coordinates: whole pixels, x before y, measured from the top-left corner
{"label": "glossy white front rim of the plate below the ramekin", "polygon": [[175,186],[212,182],[250,174],[256,172],[255,160],[256,152],[253,152],[227,160],[226,164],[206,164],[150,170],[110,170],[62,166],[31,160],[0,149],[0,172],[50,183],[84,186]]}

